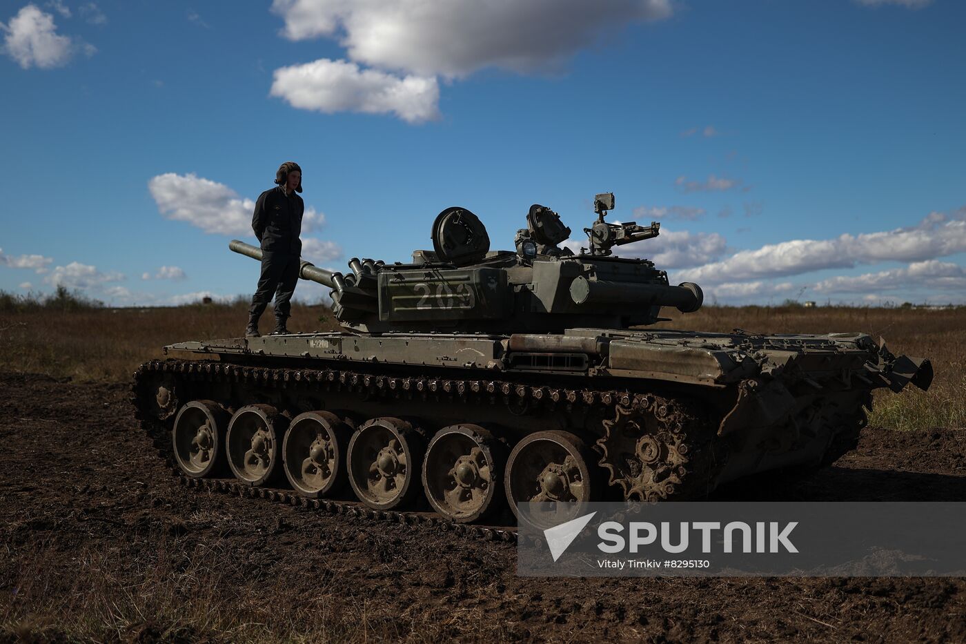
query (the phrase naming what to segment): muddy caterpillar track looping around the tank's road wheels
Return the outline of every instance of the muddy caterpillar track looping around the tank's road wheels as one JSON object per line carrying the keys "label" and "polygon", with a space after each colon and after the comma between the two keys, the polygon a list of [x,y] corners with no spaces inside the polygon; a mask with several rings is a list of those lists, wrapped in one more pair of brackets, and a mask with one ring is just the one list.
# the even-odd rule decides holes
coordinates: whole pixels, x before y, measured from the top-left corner
{"label": "muddy caterpillar track looping around the tank's road wheels", "polygon": [[[158,379],[159,377],[159,379]],[[152,381],[156,385],[158,382],[167,381],[174,385],[172,388],[172,400],[168,402],[170,409],[165,407],[159,409],[154,403],[154,395],[148,392]],[[165,461],[173,476],[176,476],[179,483],[186,487],[221,492],[246,498],[260,498],[270,502],[288,504],[319,512],[330,514],[342,514],[346,516],[366,517],[374,520],[392,521],[411,526],[433,526],[443,531],[452,531],[455,534],[464,535],[469,538],[516,542],[516,527],[495,527],[484,525],[470,525],[456,523],[435,514],[433,512],[403,512],[403,511],[375,511],[366,507],[358,501],[342,501],[327,499],[308,499],[298,495],[298,493],[278,488],[251,487],[239,483],[233,479],[192,479],[185,477],[176,464],[173,448],[171,444],[170,427],[165,424],[165,420],[171,418],[174,410],[178,407],[179,401],[174,397],[177,392],[178,381],[182,382],[227,382],[241,385],[257,385],[262,388],[289,388],[300,386],[311,386],[322,388],[323,391],[343,391],[352,392],[359,395],[389,396],[389,397],[408,397],[423,400],[438,399],[440,396],[453,397],[461,400],[472,399],[477,402],[497,402],[511,406],[526,406],[530,404],[546,405],[553,408],[556,405],[564,405],[565,409],[570,410],[576,406],[586,408],[598,408],[603,413],[604,418],[615,418],[619,422],[622,416],[626,416],[627,410],[639,410],[643,408],[658,409],[663,404],[665,407],[671,405],[676,409],[667,417],[662,417],[661,424],[673,426],[675,435],[679,435],[681,428],[687,426],[689,443],[695,444],[697,430],[707,424],[696,422],[696,415],[689,410],[691,405],[679,404],[673,406],[668,398],[654,395],[641,395],[621,391],[587,390],[587,389],[565,389],[548,386],[530,386],[515,382],[502,380],[463,380],[447,378],[431,378],[422,376],[388,376],[375,375],[359,371],[347,371],[333,368],[323,369],[293,369],[283,367],[262,367],[262,366],[241,366],[220,362],[205,361],[184,361],[184,360],[154,360],[139,366],[134,373],[134,380],[131,386],[131,403],[135,408],[135,418],[140,422],[141,428],[152,438],[158,455]],[[188,400],[182,400],[181,403]],[[661,404],[657,404],[660,401]],[[152,405],[155,405],[152,408]],[[682,423],[682,420],[687,420]],[[607,445],[608,433],[611,431],[613,422],[607,420],[602,424],[605,431],[604,438],[598,441],[601,446],[597,448],[598,455],[601,456],[598,465],[605,468],[611,474],[609,483],[618,485],[619,482],[614,476],[618,470],[608,460]],[[710,440],[710,435],[700,437],[703,444]],[[655,498],[655,493],[662,499],[667,498],[686,498],[689,489],[700,485],[680,485],[681,480],[688,474],[691,468],[685,468],[688,458],[680,458],[681,462],[675,463],[674,475],[669,480],[661,479],[651,485],[654,493],[648,494],[650,488],[644,489],[642,498]],[[694,461],[694,456],[692,456]],[[700,459],[702,462],[704,459]],[[589,464],[589,463],[588,463]],[[704,472],[704,474],[708,474]],[[700,476],[700,475],[699,475]],[[706,482],[705,482],[706,483]],[[628,487],[621,485],[625,494]],[[638,485],[638,488],[640,486]]]}

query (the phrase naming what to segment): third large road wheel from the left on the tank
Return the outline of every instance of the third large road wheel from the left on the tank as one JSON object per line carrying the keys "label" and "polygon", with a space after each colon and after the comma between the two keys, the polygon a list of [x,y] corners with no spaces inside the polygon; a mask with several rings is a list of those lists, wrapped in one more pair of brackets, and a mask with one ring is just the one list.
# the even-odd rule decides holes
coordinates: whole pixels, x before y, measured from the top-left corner
{"label": "third large road wheel from the left on the tank", "polygon": [[327,411],[299,414],[285,432],[285,476],[298,494],[325,497],[346,482],[346,453],[353,430]]}

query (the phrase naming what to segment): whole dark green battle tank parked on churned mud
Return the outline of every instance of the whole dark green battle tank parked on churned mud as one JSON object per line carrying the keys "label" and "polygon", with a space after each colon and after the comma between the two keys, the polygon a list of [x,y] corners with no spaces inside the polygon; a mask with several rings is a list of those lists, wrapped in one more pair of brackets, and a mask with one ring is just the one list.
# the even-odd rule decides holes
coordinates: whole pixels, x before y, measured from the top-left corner
{"label": "whole dark green battle tank parked on churned mud", "polygon": [[303,261],[343,332],[166,346],[135,374],[138,418],[185,483],[464,529],[511,526],[527,501],[692,499],[829,463],[872,390],[929,386],[927,360],[861,333],[639,328],[697,310],[701,289],[614,256],[660,224],[605,220],[611,193],[594,203],[576,253],[544,206],[497,251],[452,207],[410,263]]}

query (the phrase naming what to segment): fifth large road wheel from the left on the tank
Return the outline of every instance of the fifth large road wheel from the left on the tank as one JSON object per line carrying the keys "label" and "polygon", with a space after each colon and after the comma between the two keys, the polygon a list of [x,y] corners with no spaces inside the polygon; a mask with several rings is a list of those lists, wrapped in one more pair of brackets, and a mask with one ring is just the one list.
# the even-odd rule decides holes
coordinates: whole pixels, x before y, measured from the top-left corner
{"label": "fifth large road wheel from the left on the tank", "polygon": [[426,448],[422,467],[426,498],[451,521],[476,521],[501,505],[505,463],[502,445],[483,427],[444,427]]}

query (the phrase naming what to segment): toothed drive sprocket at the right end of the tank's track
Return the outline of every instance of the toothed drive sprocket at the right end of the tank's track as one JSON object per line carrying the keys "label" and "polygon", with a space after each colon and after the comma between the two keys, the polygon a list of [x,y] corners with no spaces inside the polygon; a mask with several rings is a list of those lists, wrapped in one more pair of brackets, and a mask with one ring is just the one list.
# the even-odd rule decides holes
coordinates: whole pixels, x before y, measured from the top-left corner
{"label": "toothed drive sprocket at the right end of the tank's track", "polygon": [[600,464],[626,500],[693,498],[713,486],[722,463],[694,403],[636,395],[630,404],[616,405],[614,418],[603,424]]}

